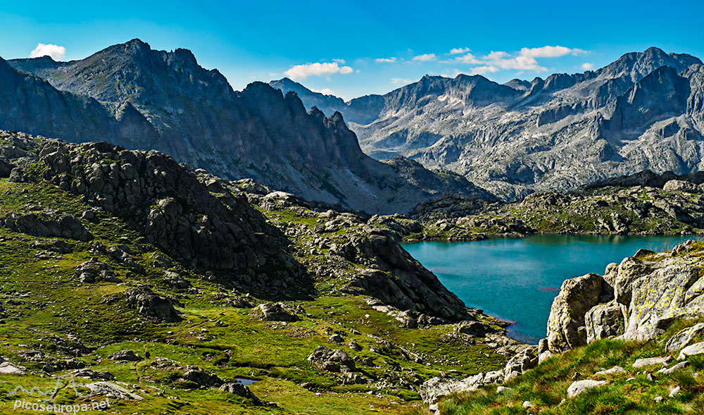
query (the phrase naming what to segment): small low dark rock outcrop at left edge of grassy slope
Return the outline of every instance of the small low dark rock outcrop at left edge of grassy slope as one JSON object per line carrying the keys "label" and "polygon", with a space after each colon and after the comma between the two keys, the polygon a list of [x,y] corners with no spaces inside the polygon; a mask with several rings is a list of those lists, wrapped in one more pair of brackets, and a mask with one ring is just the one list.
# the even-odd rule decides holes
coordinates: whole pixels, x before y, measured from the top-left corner
{"label": "small low dark rock outcrop at left edge of grassy slope", "polygon": [[15,232],[46,237],[65,237],[87,241],[92,235],[75,217],[68,214],[8,213],[0,225]]}

